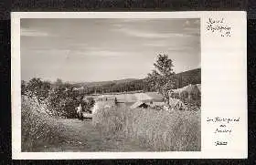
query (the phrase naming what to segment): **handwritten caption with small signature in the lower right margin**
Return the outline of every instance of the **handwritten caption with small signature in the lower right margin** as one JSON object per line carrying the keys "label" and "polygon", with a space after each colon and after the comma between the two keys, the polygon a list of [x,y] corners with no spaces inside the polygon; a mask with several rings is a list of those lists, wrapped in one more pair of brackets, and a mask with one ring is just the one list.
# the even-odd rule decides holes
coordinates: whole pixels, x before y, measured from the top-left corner
{"label": "handwritten caption with small signature in the lower right margin", "polygon": [[[240,122],[240,118],[208,118],[208,124],[217,124],[217,128],[214,129],[214,134],[231,134],[233,132],[232,125]],[[228,141],[226,140],[217,140],[214,142],[215,146],[219,145],[228,145]]]}

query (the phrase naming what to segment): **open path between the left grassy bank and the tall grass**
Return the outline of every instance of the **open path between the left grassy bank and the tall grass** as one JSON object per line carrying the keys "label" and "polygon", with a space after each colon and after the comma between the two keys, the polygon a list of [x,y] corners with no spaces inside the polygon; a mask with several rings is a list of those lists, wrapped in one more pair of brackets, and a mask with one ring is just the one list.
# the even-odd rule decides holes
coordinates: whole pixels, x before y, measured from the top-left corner
{"label": "open path between the left grassy bank and the tall grass", "polygon": [[61,132],[63,140],[38,151],[147,151],[140,147],[138,142],[103,136],[99,129],[91,125],[91,120],[58,119],[58,121],[65,128]]}

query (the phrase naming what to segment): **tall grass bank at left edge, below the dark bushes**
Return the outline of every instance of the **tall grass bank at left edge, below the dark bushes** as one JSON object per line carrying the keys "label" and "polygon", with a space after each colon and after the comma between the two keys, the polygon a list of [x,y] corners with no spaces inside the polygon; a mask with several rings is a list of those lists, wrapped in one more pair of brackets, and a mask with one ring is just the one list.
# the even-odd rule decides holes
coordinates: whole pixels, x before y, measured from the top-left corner
{"label": "tall grass bank at left edge, below the dark bushes", "polygon": [[22,96],[21,102],[21,150],[37,151],[44,145],[61,140],[61,126],[48,115],[48,108],[36,98]]}

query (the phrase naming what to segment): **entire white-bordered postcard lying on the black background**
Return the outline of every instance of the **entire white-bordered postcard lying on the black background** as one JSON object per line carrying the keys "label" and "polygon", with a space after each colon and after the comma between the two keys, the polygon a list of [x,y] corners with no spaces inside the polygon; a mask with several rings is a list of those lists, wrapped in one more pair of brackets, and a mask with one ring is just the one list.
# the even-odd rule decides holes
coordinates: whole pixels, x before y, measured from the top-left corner
{"label": "entire white-bordered postcard lying on the black background", "polygon": [[13,12],[14,160],[246,159],[246,12]]}

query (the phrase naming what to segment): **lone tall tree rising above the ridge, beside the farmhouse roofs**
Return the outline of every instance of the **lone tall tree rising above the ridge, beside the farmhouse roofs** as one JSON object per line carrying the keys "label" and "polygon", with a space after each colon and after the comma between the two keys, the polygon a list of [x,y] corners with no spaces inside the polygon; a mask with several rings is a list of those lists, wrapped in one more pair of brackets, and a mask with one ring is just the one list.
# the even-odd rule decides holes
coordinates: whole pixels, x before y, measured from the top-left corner
{"label": "lone tall tree rising above the ridge, beside the farmhouse roofs", "polygon": [[176,87],[176,74],[173,71],[173,61],[167,55],[158,55],[154,63],[155,69],[146,77],[148,85],[160,93],[169,105],[169,91]]}

